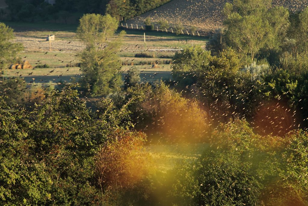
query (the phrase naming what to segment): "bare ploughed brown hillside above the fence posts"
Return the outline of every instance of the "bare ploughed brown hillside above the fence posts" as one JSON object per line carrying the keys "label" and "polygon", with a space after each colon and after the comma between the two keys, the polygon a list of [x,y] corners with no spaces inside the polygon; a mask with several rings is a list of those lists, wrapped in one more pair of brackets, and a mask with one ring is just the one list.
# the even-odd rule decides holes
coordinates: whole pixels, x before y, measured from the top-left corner
{"label": "bare ploughed brown hillside above the fence posts", "polygon": [[[173,0],[152,11],[126,21],[126,23],[143,24],[150,17],[156,23],[166,19],[171,24],[181,23],[185,26],[199,27],[213,31],[222,25],[221,11],[226,2],[232,0]],[[274,6],[285,6],[290,11],[299,11],[308,6],[308,0],[274,0]]]}

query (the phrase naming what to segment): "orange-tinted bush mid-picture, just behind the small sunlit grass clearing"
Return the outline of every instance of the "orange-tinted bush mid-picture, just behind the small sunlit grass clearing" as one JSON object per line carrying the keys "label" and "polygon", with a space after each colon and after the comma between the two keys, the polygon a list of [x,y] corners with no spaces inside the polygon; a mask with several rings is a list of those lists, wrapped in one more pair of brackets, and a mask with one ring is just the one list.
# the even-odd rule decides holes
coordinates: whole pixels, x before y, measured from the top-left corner
{"label": "orange-tinted bush mid-picture, just behind the small sunlit grass clearing", "polygon": [[208,117],[195,100],[181,97],[163,82],[155,89],[148,84],[128,88],[128,97],[138,96],[129,110],[136,128],[150,134],[163,134],[172,141],[206,141]]}

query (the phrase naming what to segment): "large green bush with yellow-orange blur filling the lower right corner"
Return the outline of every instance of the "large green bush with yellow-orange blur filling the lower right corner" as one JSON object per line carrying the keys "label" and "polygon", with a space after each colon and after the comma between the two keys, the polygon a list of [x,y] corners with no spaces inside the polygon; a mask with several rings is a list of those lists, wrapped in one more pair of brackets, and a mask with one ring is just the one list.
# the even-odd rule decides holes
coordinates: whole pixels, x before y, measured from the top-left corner
{"label": "large green bush with yellow-orange blur filling the lower right corner", "polygon": [[175,168],[169,194],[185,205],[306,205],[307,146],[302,131],[263,137],[246,121],[221,125],[197,161]]}

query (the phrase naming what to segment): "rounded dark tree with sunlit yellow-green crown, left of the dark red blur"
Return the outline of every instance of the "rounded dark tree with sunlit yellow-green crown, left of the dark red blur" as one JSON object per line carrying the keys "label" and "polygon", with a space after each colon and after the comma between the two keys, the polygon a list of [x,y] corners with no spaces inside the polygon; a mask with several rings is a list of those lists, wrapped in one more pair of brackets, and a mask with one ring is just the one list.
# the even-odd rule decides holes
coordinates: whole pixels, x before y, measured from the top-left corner
{"label": "rounded dark tree with sunlit yellow-green crown, left of the dark red blur", "polygon": [[252,115],[258,81],[242,68],[240,57],[228,49],[223,50],[219,57],[210,57],[209,64],[199,70],[197,86],[200,99],[213,120],[225,122],[236,116]]}

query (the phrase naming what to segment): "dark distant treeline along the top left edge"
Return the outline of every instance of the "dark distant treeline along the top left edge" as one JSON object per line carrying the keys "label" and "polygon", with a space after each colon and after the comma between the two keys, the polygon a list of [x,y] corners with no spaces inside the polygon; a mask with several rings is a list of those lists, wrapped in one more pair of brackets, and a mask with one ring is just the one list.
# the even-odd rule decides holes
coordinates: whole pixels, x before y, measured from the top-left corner
{"label": "dark distant treeline along the top left edge", "polygon": [[[129,19],[154,9],[170,0],[56,0],[51,5],[45,0],[5,0],[6,18],[13,21],[55,21],[67,23],[86,13],[110,14],[118,20]],[[77,15],[78,14],[78,15]],[[74,18],[75,17],[75,18]],[[71,21],[70,21],[71,22]],[[75,23],[75,22],[74,22]]]}

